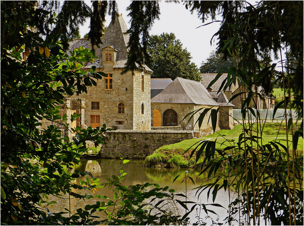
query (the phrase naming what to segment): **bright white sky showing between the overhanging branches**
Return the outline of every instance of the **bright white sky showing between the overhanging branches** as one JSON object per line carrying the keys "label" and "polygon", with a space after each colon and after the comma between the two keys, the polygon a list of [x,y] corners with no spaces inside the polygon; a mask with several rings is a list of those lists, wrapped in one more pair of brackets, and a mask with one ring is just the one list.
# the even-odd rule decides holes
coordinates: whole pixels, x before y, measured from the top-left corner
{"label": "bright white sky showing between the overhanging branches", "polygon": [[[250,1],[253,2],[253,1]],[[127,26],[130,28],[130,17],[126,11],[130,1],[116,0],[119,14],[123,14]],[[89,4],[89,3],[87,3]],[[160,4],[160,19],[154,22],[150,30],[150,35],[160,35],[164,33],[174,33],[175,37],[182,43],[182,48],[186,48],[191,54],[191,61],[199,68],[202,61],[206,61],[210,53],[216,49],[217,40],[213,38],[212,45],[210,40],[218,31],[220,22],[199,27],[203,25],[196,13],[191,15],[190,11],[183,4],[166,3],[159,1]],[[216,20],[221,20],[217,18]],[[105,26],[108,26],[111,21],[110,16],[106,17]],[[208,23],[211,20],[205,22]],[[89,20],[80,29],[81,38],[89,31]],[[199,27],[199,28],[197,28]]]}

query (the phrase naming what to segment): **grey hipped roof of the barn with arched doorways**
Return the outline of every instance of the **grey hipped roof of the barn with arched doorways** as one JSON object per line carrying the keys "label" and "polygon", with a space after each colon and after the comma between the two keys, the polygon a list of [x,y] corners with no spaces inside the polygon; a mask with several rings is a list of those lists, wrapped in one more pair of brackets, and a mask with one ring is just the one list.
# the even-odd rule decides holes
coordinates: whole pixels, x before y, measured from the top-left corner
{"label": "grey hipped roof of the barn with arched doorways", "polygon": [[218,106],[207,89],[198,81],[175,78],[151,103],[183,103]]}

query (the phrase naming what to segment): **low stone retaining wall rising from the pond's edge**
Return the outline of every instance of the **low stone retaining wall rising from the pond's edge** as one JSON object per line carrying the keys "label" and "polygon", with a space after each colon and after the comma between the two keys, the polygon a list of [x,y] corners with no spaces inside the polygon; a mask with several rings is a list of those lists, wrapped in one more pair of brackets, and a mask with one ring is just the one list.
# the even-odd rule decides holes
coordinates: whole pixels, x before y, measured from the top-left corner
{"label": "low stone retaining wall rising from the pond's edge", "polygon": [[193,138],[193,131],[137,131],[114,130],[106,133],[102,145],[102,158],[143,159],[163,145],[178,143]]}

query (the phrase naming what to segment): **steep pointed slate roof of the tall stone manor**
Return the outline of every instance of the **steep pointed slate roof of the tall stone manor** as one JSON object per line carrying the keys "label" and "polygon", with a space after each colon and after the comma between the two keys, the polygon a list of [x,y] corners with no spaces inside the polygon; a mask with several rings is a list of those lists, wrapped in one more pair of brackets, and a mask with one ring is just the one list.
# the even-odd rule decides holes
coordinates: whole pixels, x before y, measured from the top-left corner
{"label": "steep pointed slate roof of the tall stone manor", "polygon": [[[87,68],[91,68],[92,66],[96,66],[97,68],[103,68],[102,65],[102,49],[107,46],[112,46],[117,52],[116,60],[113,65],[113,68],[124,68],[128,59],[128,42],[129,42],[129,34],[125,34],[128,28],[122,17],[122,15],[116,15],[115,20],[112,20],[107,28],[104,36],[102,37],[100,44],[100,48],[95,47],[96,59],[95,62],[88,64]],[[90,40],[87,38],[74,39],[70,43],[70,50],[74,48],[78,48],[79,46],[83,46],[85,48],[92,49],[92,45]],[[147,71],[152,71],[145,65],[145,69]]]}

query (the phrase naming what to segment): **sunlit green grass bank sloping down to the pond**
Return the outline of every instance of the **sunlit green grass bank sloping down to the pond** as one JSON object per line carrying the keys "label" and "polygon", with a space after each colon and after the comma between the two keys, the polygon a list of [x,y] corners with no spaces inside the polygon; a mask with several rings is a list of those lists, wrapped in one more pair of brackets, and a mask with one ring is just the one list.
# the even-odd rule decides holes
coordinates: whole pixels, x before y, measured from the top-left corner
{"label": "sunlit green grass bank sloping down to the pond", "polygon": [[[237,142],[239,135],[242,133],[243,126],[236,125],[231,130],[220,130],[215,134],[208,135],[202,138],[193,138],[190,140],[184,140],[171,145],[164,145],[158,148],[152,155],[146,158],[148,166],[155,167],[168,167],[168,168],[184,168],[194,166],[195,159],[189,159],[191,151],[203,140],[217,141],[216,148],[224,149],[227,146],[233,146],[234,142]],[[254,130],[255,128],[252,128]],[[288,132],[289,150],[292,150],[291,133]],[[254,134],[255,135],[255,134]],[[226,141],[225,141],[226,140]],[[263,129],[262,140],[259,139],[259,143],[263,145],[270,141],[277,141],[280,144],[287,146],[286,142],[286,128],[280,123],[267,123]],[[224,142],[225,141],[225,142]],[[224,143],[223,143],[224,142]],[[279,146],[279,148],[282,148]],[[189,150],[188,150],[189,149]],[[188,150],[188,151],[187,151]],[[303,139],[300,138],[298,141],[298,152],[303,153]],[[187,151],[187,153],[185,153]],[[282,151],[283,148],[282,148]]]}

